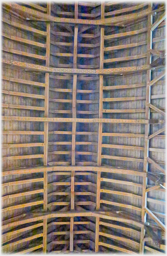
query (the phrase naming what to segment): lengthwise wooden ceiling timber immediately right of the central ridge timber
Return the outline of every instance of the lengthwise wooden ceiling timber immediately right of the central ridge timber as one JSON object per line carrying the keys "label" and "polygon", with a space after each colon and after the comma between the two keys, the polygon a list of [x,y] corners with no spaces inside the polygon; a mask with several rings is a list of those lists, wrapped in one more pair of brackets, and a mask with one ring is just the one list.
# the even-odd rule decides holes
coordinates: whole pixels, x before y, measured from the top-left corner
{"label": "lengthwise wooden ceiling timber immediately right of the central ridge timber", "polygon": [[[101,2],[101,19],[104,19],[105,3]],[[100,69],[103,69],[104,61],[104,28],[100,31]],[[99,81],[99,118],[103,117],[103,76],[100,76]],[[102,122],[99,122],[99,136],[98,136],[98,152],[97,165],[101,165],[101,144],[102,144]],[[96,186],[96,210],[100,209],[100,180],[101,172],[97,172],[97,186]],[[96,236],[95,236],[95,252],[99,251],[99,217],[96,217]]]}

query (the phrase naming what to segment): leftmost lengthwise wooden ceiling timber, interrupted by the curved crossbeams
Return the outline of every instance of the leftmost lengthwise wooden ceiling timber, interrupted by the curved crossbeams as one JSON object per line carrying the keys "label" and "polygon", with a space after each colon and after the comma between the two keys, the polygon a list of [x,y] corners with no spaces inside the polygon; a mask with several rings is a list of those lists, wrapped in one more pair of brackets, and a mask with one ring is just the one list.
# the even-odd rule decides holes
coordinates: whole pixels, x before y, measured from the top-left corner
{"label": "leftmost lengthwise wooden ceiling timber, interrupted by the curved crossbeams", "polygon": [[[51,3],[47,3],[47,14],[51,14]],[[46,48],[46,66],[49,67],[50,59],[50,35],[51,25],[47,24],[47,48]],[[45,74],[45,117],[49,115],[49,73]],[[48,122],[44,123],[44,165],[48,164]],[[47,211],[48,204],[48,174],[44,172],[44,211]],[[47,219],[44,219],[43,225],[43,253],[47,253]]]}

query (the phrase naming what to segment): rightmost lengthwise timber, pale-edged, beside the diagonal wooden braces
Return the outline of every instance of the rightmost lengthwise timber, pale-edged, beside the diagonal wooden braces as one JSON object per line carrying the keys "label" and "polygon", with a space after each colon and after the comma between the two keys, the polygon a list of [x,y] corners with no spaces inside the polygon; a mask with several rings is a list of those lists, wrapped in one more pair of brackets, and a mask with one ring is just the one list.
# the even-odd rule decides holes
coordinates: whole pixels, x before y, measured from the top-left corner
{"label": "rightmost lengthwise timber, pale-edged, beside the diagonal wooden braces", "polygon": [[[152,3],[149,3],[149,11],[152,11]],[[147,37],[147,64],[151,63],[151,48],[152,48],[152,15],[148,15],[148,37]],[[147,85],[146,85],[146,107],[145,107],[145,119],[150,118],[150,109],[149,103],[151,100],[151,88],[150,88],[150,81],[151,81],[151,69],[147,70]],[[149,155],[149,124],[145,124],[145,147],[144,147],[144,172],[148,172],[148,161],[147,157]],[[146,222],[146,212],[145,208],[147,205],[147,193],[146,193],[146,186],[147,186],[147,178],[143,177],[143,193],[142,193],[142,216],[141,220],[143,223]],[[140,253],[144,253],[144,235],[145,230],[144,226],[141,228],[141,238],[140,238]]]}

